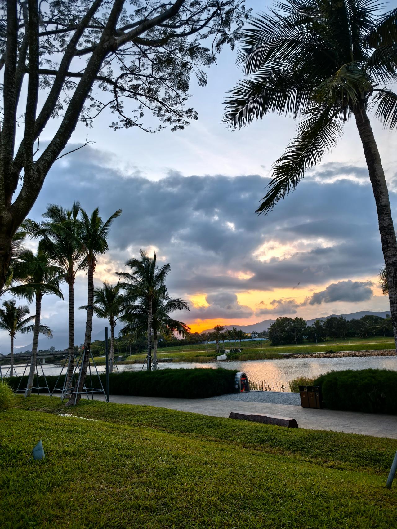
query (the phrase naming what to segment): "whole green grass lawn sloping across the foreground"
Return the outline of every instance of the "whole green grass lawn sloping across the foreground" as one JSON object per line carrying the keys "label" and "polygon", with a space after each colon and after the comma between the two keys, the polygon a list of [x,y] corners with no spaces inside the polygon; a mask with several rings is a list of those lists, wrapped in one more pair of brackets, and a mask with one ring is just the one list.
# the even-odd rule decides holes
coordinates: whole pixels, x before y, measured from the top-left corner
{"label": "whole green grass lawn sloping across the foreground", "polygon": [[[17,398],[0,413],[0,526],[395,527],[397,442],[149,406]],[[47,412],[47,413],[43,413]],[[42,438],[46,460],[33,462]]]}

